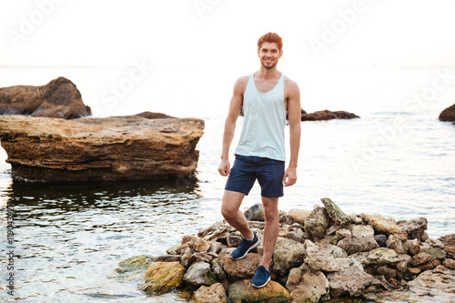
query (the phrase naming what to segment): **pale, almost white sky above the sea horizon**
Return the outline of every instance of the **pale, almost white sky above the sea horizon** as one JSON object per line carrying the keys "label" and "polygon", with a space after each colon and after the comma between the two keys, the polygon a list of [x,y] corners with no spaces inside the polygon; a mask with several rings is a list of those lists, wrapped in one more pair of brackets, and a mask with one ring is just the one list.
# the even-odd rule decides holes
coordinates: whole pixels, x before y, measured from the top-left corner
{"label": "pale, almost white sky above the sea horizon", "polygon": [[453,0],[0,1],[0,66],[455,66]]}

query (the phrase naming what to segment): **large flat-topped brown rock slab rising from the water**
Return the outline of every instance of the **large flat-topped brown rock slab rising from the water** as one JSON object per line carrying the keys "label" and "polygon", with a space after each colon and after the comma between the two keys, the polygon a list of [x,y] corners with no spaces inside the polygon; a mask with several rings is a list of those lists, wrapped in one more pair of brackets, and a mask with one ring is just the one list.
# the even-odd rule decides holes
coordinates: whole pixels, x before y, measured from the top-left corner
{"label": "large flat-topped brown rock slab rising from the water", "polygon": [[97,181],[193,176],[204,121],[141,116],[2,116],[0,140],[15,179]]}

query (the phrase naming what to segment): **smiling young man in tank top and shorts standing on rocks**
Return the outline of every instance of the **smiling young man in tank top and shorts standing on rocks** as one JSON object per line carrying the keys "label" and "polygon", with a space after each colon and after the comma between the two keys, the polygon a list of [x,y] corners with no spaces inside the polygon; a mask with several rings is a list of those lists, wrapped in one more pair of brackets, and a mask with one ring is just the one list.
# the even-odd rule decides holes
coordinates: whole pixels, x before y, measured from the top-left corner
{"label": "smiling young man in tank top and shorts standing on rocks", "polygon": [[[248,220],[239,210],[258,179],[264,208],[264,254],[250,284],[265,287],[270,280],[270,262],[278,238],[278,197],[283,196],[283,185],[297,181],[298,149],[300,146],[300,92],[297,83],[278,72],[277,64],[283,55],[281,37],[268,33],[258,39],[260,68],[250,76],[238,78],[230,100],[223,136],[223,150],[218,172],[228,176],[221,213],[227,222],[244,237],[231,258],[247,256],[258,247],[256,233],[248,227]],[[244,125],[236,159],[230,168],[228,154],[234,137],[236,122],[243,107]],[[290,161],[285,171],[284,128],[288,112],[290,132]]]}

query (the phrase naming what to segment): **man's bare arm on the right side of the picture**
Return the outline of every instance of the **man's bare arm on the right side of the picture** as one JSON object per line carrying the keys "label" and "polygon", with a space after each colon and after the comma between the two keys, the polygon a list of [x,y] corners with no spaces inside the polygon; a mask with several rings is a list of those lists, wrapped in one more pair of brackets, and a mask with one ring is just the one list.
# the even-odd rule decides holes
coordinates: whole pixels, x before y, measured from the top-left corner
{"label": "man's bare arm on the right side of the picture", "polygon": [[300,148],[300,90],[294,81],[288,82],[288,121],[290,160],[288,169],[283,177],[285,187],[290,187],[297,182],[298,150]]}

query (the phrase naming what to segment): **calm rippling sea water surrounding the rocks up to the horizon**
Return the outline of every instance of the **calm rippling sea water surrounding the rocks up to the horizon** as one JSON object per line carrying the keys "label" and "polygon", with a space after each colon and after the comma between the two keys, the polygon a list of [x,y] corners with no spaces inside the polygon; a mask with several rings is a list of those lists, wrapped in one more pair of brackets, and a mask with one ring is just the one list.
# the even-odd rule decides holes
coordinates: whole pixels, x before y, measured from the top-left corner
{"label": "calm rippling sea water surrounding the rocks up to the horizon", "polygon": [[[301,76],[301,83],[309,78],[315,83],[301,85],[304,108],[343,109],[361,118],[302,123],[298,184],[286,188],[280,209],[311,209],[321,205],[320,197],[331,197],[347,213],[427,217],[430,237],[455,232],[455,126],[438,120],[440,111],[455,102],[455,78],[429,101],[409,101],[430,92],[426,88],[440,70],[359,70],[350,71],[349,79],[341,70]],[[12,182],[5,151],[0,150],[1,243],[5,247],[5,206],[11,202],[15,207],[14,298],[26,302],[185,301],[174,293],[147,297],[137,290],[138,280],[110,277],[121,260],[164,254],[183,235],[221,219],[219,204],[226,179],[218,176],[217,165],[232,78],[228,86],[207,88],[200,94],[192,86],[181,87],[167,96],[178,100],[176,106],[163,102],[165,92],[159,89],[166,85],[167,71],[156,71],[165,75],[154,77],[156,89],[144,91],[142,86],[148,84],[138,85],[136,95],[109,107],[99,101],[108,86],[96,86],[93,79],[121,79],[127,70],[94,69],[88,78],[84,69],[62,74],[56,68],[4,67],[0,72],[0,86],[41,85],[69,74],[96,116],[150,110],[206,121],[197,146],[196,183],[19,184]],[[455,69],[450,72],[455,74]],[[203,72],[197,75],[207,77]],[[150,99],[160,102],[144,101]],[[241,124],[239,119],[238,133]],[[242,208],[259,199],[259,188],[254,187]],[[2,258],[5,280],[9,272],[5,253]],[[12,299],[6,291],[2,283],[0,298]]]}

